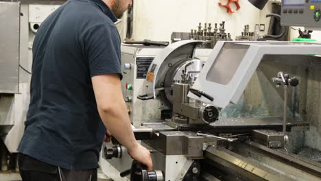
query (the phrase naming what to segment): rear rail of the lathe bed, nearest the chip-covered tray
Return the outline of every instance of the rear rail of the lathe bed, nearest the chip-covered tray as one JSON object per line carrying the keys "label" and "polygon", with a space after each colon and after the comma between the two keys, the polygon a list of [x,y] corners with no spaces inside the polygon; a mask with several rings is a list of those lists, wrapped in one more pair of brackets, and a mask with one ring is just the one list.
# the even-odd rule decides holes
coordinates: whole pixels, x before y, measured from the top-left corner
{"label": "rear rail of the lathe bed, nearest the chip-covered tray", "polygon": [[270,149],[252,141],[235,143],[233,147],[235,154],[276,171],[276,176],[287,176],[290,180],[321,179],[320,163],[288,153],[285,149]]}

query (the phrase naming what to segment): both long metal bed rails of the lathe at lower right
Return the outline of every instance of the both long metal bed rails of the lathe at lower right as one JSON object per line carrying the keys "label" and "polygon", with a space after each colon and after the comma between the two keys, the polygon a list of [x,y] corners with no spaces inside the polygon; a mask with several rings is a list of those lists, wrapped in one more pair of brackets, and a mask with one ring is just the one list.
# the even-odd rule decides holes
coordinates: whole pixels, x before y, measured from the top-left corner
{"label": "both long metal bed rails of the lathe at lower right", "polygon": [[[230,145],[230,149],[209,147],[204,156],[205,163],[221,174],[233,174],[238,180],[320,180],[321,165],[311,160],[302,160],[299,156],[282,150],[253,142]],[[207,165],[207,168],[209,168]],[[213,173],[213,172],[212,172]],[[215,173],[214,173],[215,176]]]}

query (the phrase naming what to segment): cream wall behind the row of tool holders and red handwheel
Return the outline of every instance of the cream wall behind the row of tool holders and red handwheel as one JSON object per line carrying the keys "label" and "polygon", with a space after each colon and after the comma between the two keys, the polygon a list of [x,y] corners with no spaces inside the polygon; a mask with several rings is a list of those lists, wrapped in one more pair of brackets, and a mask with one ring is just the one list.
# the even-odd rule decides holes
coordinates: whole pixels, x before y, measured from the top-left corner
{"label": "cream wall behind the row of tool holders and red handwheel", "polygon": [[[244,25],[268,23],[265,14],[271,4],[260,11],[248,1],[239,1],[241,9],[230,14],[218,5],[218,0],[141,0],[134,1],[133,38],[135,40],[170,40],[171,32],[190,32],[198,23],[221,23],[226,21],[226,32],[234,39],[241,35]],[[222,1],[226,3],[227,0]],[[234,4],[231,5],[236,9]],[[204,25],[203,25],[204,26]],[[268,26],[265,27],[268,29]]]}

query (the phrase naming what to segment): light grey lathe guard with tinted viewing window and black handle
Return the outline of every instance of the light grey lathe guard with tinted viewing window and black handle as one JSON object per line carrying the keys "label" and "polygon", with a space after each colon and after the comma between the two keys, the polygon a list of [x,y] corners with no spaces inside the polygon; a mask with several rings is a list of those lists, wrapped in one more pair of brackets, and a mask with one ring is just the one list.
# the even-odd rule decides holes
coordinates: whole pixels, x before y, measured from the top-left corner
{"label": "light grey lathe guard with tinted viewing window and black handle", "polygon": [[237,103],[264,55],[316,54],[320,43],[218,42],[189,97],[225,108]]}

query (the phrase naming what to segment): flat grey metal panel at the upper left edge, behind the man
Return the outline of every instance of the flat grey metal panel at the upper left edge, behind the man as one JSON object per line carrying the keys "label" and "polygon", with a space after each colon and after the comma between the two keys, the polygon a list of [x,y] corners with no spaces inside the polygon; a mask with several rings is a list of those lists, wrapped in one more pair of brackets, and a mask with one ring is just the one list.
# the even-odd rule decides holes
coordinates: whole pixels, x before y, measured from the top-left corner
{"label": "flat grey metal panel at the upper left edge, behind the man", "polygon": [[0,2],[0,25],[0,93],[19,93],[19,2]]}

